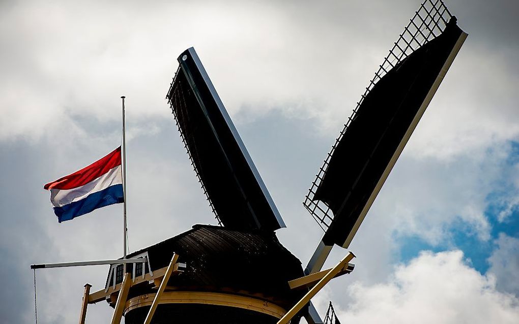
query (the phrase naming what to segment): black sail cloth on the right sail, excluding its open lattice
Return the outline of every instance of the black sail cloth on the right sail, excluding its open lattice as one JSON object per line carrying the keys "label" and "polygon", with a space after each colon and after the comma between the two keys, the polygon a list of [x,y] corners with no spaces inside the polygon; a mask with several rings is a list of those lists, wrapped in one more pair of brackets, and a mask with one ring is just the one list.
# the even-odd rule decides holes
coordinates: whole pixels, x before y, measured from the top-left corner
{"label": "black sail cloth on the right sail, excluding its open lattice", "polygon": [[364,98],[313,197],[334,213],[323,237],[326,245],[349,244],[348,236],[356,232],[359,218],[365,216],[400,155],[462,33],[453,17],[441,35],[392,68]]}

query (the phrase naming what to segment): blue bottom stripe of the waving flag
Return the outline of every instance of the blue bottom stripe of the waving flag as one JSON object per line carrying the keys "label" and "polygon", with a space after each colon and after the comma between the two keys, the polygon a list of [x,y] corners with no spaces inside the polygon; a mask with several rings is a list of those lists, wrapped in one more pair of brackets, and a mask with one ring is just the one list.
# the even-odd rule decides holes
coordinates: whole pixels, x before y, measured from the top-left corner
{"label": "blue bottom stripe of the waving flag", "polygon": [[54,214],[58,216],[58,221],[61,223],[62,221],[90,213],[94,209],[122,202],[124,202],[122,184],[119,184],[89,194],[79,201],[61,207],[54,207]]}

